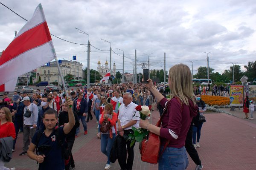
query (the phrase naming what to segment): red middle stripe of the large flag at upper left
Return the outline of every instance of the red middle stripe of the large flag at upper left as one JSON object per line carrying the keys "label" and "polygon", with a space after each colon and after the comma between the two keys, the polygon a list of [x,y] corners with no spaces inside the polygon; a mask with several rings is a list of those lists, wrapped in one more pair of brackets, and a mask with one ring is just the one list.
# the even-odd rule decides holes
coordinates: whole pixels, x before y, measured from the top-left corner
{"label": "red middle stripe of the large flag at upper left", "polygon": [[19,37],[15,38],[10,45],[8,45],[1,56],[0,65],[32,48],[43,45],[50,40],[52,40],[52,38],[50,36],[47,22],[41,23],[40,25],[24,32]]}

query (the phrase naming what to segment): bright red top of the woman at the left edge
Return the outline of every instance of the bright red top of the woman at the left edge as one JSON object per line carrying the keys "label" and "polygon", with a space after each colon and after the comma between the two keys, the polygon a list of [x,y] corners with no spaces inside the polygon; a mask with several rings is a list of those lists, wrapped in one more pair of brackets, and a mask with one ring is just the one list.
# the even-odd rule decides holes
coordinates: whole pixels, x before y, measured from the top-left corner
{"label": "bright red top of the woman at the left edge", "polygon": [[5,138],[9,136],[12,136],[13,139],[16,138],[14,124],[12,122],[6,122],[3,125],[1,125],[0,120],[0,138]]}

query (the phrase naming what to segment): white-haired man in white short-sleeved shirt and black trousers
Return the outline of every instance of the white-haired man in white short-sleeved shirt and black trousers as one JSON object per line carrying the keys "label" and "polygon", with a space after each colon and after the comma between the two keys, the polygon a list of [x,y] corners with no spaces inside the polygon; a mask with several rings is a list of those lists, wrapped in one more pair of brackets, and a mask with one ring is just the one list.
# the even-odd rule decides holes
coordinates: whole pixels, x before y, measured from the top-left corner
{"label": "white-haired man in white short-sleeved shirt and black trousers", "polygon": [[[117,119],[118,122],[118,134],[122,136],[122,142],[120,142],[119,149],[119,157],[118,157],[118,163],[122,170],[131,170],[133,161],[134,161],[134,144],[132,147],[130,147],[131,141],[126,140],[126,137],[130,133],[133,133],[133,130],[131,130],[131,127],[139,127],[139,121],[140,121],[140,113],[135,110],[136,104],[132,102],[132,96],[131,93],[126,92],[123,94],[123,103],[119,107],[119,116]],[[135,116],[133,116],[135,113]],[[126,150],[128,153],[128,158],[126,161]]]}

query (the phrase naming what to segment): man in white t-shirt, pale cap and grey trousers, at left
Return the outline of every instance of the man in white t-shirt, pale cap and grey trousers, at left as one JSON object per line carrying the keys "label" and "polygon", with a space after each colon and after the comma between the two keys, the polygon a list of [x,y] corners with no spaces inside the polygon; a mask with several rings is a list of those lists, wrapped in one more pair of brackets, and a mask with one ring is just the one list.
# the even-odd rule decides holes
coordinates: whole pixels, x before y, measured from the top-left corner
{"label": "man in white t-shirt, pale cap and grey trousers, at left", "polygon": [[[23,97],[20,101],[25,105],[24,108],[24,125],[23,125],[23,152],[20,153],[20,156],[27,154],[27,150],[29,149],[29,136],[32,140],[35,130],[36,124],[38,120],[38,107],[34,103],[30,102],[30,98],[28,96]],[[26,111],[30,111],[31,115],[26,117]]]}

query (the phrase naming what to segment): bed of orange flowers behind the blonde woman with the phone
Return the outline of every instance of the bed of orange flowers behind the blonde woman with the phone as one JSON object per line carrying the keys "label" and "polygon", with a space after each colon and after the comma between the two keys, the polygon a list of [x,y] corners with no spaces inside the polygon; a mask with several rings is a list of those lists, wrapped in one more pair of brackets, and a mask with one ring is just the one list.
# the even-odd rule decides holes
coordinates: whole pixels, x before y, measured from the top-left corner
{"label": "bed of orange flowers behind the blonde woman with the phone", "polygon": [[208,96],[208,95],[201,95],[201,99],[207,104],[207,105],[229,105],[230,104],[230,98],[229,97],[222,97],[222,96]]}

